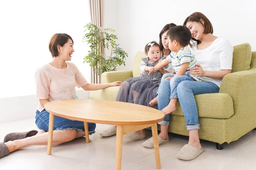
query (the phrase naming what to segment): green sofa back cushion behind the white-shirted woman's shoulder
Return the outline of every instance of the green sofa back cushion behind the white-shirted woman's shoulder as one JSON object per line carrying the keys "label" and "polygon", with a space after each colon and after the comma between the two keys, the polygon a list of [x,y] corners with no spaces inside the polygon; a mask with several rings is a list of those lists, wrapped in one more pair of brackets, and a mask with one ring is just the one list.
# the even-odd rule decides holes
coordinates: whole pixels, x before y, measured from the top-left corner
{"label": "green sofa back cushion behind the white-shirted woman's shoulder", "polygon": [[234,46],[232,73],[250,69],[252,59],[251,46],[248,43]]}

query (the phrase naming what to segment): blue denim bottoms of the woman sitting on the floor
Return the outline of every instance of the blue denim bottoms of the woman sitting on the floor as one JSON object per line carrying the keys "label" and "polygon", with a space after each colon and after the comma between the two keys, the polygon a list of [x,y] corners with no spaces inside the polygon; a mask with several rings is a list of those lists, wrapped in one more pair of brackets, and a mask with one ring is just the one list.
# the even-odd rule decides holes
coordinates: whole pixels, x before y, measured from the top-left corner
{"label": "blue denim bottoms of the woman sitting on the floor", "polygon": [[[49,112],[45,109],[43,111],[36,111],[35,124],[41,130],[48,132],[49,130]],[[95,123],[88,123],[88,131],[93,134],[95,133]],[[84,122],[69,120],[59,116],[54,116],[53,130],[66,130],[73,129],[84,132]]]}

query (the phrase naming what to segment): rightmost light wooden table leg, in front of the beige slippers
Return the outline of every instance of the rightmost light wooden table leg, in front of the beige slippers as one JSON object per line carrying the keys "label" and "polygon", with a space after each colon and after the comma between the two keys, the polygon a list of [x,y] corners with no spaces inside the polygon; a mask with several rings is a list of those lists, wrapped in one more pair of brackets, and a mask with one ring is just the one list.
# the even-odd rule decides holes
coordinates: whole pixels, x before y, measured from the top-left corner
{"label": "rightmost light wooden table leg, in front of the beige slippers", "polygon": [[160,164],[160,153],[159,153],[159,145],[158,145],[158,134],[157,134],[157,124],[154,123],[152,128],[152,136],[153,136],[153,142],[154,142],[154,152],[155,152],[155,159],[157,164],[157,169],[161,169]]}

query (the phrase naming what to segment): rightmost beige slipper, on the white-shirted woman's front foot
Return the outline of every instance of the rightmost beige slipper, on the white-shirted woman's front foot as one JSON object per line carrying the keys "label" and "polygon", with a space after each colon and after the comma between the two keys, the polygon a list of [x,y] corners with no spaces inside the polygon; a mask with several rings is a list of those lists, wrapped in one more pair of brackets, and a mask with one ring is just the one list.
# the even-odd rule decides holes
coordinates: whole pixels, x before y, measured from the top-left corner
{"label": "rightmost beige slipper, on the white-shirted woman's front foot", "polygon": [[191,145],[185,144],[177,153],[177,157],[183,160],[192,160],[198,157],[198,155],[200,155],[202,152],[204,152],[204,148],[198,149]]}

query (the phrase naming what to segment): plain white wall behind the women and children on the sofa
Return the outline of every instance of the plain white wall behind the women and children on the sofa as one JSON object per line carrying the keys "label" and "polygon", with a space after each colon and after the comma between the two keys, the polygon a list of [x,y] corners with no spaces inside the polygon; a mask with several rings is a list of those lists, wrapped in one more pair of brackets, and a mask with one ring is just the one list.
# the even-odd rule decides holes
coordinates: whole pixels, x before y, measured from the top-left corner
{"label": "plain white wall behind the women and children on the sofa", "polygon": [[149,41],[158,42],[163,26],[182,25],[196,11],[208,17],[215,36],[227,38],[232,45],[248,42],[256,51],[256,0],[105,0],[106,3],[105,26],[115,27],[117,42],[128,53],[126,66],[119,70],[131,69],[137,51],[144,51]]}

